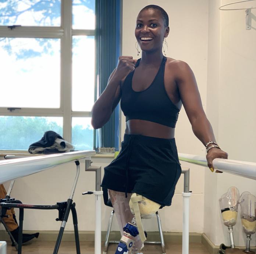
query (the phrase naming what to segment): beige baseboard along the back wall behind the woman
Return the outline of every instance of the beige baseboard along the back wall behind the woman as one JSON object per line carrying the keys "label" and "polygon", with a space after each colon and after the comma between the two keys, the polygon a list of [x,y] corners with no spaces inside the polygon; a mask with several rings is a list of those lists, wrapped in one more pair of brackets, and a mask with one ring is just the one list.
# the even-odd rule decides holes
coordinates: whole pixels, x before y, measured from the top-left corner
{"label": "beige baseboard along the back wall behind the woman", "polygon": [[[58,231],[37,231],[40,233],[38,241],[56,241],[58,236]],[[35,231],[24,230],[24,233],[35,233]],[[106,239],[106,231],[102,231],[102,242]],[[163,232],[164,241],[166,243],[182,243],[182,233],[180,232]],[[5,230],[0,230],[1,240],[10,240],[7,232]],[[111,231],[109,240],[119,240],[120,232]],[[93,242],[94,241],[94,231],[79,231],[79,240],[81,242]],[[159,232],[147,232],[148,241],[160,241]],[[62,241],[75,241],[73,231],[64,231]],[[189,233],[189,242],[191,243],[201,243],[202,234],[200,233]]]}

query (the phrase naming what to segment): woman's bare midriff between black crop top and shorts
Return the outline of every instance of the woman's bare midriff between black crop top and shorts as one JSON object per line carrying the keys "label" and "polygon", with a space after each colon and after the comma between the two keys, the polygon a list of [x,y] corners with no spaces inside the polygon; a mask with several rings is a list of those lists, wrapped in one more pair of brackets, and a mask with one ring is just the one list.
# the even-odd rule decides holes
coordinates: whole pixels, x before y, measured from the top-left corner
{"label": "woman's bare midriff between black crop top and shorts", "polygon": [[157,124],[155,122],[131,119],[126,122],[126,134],[173,139],[175,128]]}

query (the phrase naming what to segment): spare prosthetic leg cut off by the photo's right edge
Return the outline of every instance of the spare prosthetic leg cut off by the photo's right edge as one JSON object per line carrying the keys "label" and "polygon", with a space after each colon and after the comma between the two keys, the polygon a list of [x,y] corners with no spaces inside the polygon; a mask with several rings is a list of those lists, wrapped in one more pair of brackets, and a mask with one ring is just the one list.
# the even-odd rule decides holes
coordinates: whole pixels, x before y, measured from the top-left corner
{"label": "spare prosthetic leg cut off by the photo's right edge", "polygon": [[255,203],[256,197],[249,192],[243,192],[240,197],[241,207],[241,221],[243,225],[243,231],[246,234],[246,249],[245,253],[255,254],[254,251],[250,251],[251,235],[256,232],[256,217],[255,217]]}

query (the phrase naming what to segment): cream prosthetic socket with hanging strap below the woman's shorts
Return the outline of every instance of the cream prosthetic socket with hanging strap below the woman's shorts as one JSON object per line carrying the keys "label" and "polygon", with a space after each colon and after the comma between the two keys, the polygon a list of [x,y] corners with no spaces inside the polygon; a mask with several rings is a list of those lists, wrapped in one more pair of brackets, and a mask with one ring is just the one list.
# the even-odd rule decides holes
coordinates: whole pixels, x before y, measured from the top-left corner
{"label": "cream prosthetic socket with hanging strap below the woman's shorts", "polygon": [[151,218],[153,214],[160,208],[160,204],[157,204],[146,197],[142,197],[136,193],[133,193],[129,202],[131,212],[135,215],[136,224],[139,230],[139,236],[142,243],[145,242],[146,236],[143,230],[141,218]]}

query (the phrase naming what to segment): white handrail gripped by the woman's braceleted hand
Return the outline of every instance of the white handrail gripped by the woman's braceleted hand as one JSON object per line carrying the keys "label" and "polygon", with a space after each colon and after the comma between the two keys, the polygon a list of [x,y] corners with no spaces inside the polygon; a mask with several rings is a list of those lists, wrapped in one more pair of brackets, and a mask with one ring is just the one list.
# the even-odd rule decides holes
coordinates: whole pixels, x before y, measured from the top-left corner
{"label": "white handrail gripped by the woman's braceleted hand", "polygon": [[[190,162],[196,165],[207,167],[206,157],[178,153],[179,160]],[[251,178],[256,180],[256,163],[248,161],[237,161],[237,160],[227,160],[216,158],[213,160],[214,169],[219,169],[220,171],[231,173],[233,175],[239,175],[246,178]]]}

